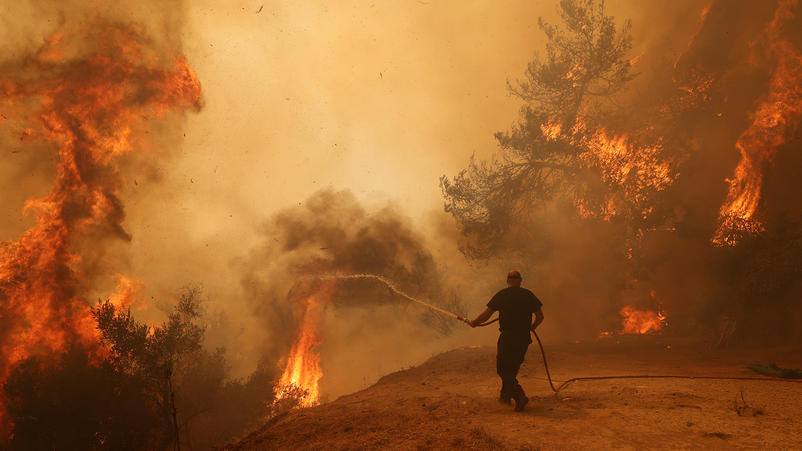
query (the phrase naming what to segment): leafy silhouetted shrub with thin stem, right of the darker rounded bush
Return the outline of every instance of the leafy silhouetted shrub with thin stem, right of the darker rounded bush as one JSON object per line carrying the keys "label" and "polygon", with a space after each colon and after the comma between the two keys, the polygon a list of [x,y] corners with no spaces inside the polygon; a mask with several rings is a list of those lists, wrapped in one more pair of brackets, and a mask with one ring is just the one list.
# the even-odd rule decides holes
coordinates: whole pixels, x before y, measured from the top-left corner
{"label": "leafy silhouetted shrub with thin stem, right of the darker rounded bush", "polygon": [[201,294],[199,286],[184,288],[168,320],[155,327],[136,322],[130,309],[109,302],[93,311],[111,361],[142,381],[144,395],[160,412],[156,421],[172,442],[170,375],[181,445],[189,450],[221,445],[243,433],[267,414],[273,398],[274,375],[265,360],[244,383],[229,379],[225,349],[205,350],[205,327],[196,324]]}

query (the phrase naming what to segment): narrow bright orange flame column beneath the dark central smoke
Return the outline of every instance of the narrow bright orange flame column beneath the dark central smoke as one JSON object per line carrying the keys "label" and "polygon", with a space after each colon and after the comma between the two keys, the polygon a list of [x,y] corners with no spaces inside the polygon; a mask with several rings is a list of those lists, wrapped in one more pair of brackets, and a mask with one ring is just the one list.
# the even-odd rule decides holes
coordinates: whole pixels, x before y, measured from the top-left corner
{"label": "narrow bright orange flame column beneath the dark central smoke", "polygon": [[328,302],[333,294],[334,282],[326,282],[317,293],[298,301],[302,310],[301,318],[286,356],[286,369],[278,392],[288,392],[288,388],[306,392],[301,400],[303,407],[319,404],[318,380],[323,372],[320,369],[320,356],[314,352],[314,348],[322,342],[323,337],[318,332],[318,308]]}

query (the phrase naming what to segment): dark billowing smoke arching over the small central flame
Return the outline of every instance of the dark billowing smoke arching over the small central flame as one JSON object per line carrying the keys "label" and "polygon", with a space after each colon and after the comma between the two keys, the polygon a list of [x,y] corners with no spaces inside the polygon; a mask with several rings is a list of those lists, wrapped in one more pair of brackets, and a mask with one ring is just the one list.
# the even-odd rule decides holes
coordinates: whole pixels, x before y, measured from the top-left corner
{"label": "dark billowing smoke arching over the small central flame", "polygon": [[[254,311],[269,319],[279,346],[294,330],[293,299],[309,295],[328,274],[373,274],[399,291],[438,307],[459,307],[455,288],[428,250],[429,243],[409,218],[392,205],[367,209],[349,191],[320,191],[302,205],[277,213],[262,227],[265,245],[250,257],[242,286]],[[395,316],[424,323],[431,312],[372,279],[337,282],[335,309],[389,307]],[[460,312],[464,313],[464,312]],[[277,319],[277,322],[273,322]],[[387,319],[383,323],[389,321]],[[439,329],[448,335],[450,329]],[[282,351],[280,348],[274,352]]]}

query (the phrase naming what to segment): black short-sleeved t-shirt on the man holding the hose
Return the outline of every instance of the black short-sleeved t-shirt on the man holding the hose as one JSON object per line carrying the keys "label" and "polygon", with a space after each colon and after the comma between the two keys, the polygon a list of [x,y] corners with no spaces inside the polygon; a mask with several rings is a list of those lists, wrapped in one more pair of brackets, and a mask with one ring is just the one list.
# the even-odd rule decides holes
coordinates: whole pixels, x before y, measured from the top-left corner
{"label": "black short-sleeved t-shirt on the man holding the hose", "polygon": [[508,286],[490,299],[488,307],[499,312],[499,330],[510,334],[529,338],[532,328],[532,314],[541,310],[543,303],[532,291],[520,286]]}

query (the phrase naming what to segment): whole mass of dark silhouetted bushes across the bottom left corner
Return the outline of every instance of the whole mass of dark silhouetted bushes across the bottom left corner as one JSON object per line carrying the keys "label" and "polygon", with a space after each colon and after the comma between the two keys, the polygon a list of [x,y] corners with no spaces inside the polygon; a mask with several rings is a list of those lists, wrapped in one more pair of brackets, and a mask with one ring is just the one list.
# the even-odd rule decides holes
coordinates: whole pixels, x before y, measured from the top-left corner
{"label": "whole mass of dark silhouetted bushes across the bottom left corner", "polygon": [[58,364],[22,360],[3,386],[14,424],[8,449],[172,449],[171,382],[182,449],[223,445],[256,426],[270,413],[273,365],[261,360],[248,380],[232,380],[225,349],[203,347],[200,295],[184,289],[152,327],[101,302],[92,313],[107,357],[93,362],[74,347]]}

